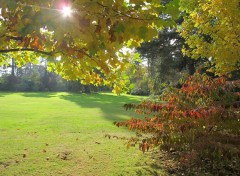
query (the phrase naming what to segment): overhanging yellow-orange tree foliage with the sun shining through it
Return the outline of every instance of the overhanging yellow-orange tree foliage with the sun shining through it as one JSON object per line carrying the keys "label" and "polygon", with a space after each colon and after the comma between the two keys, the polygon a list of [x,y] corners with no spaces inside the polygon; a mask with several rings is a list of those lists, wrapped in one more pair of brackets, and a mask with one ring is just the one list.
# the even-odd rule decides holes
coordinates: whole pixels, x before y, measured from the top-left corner
{"label": "overhanging yellow-orange tree foliage with the sun shining through it", "polygon": [[[1,0],[0,4],[0,53],[9,53],[18,65],[48,56],[49,67],[85,84],[119,82],[118,73],[127,63],[127,54],[119,50],[151,40],[159,28],[173,25],[178,14],[177,0],[166,6],[158,0]],[[70,6],[72,13],[63,16]],[[159,18],[165,11],[171,19]],[[1,55],[0,63],[6,59]]]}

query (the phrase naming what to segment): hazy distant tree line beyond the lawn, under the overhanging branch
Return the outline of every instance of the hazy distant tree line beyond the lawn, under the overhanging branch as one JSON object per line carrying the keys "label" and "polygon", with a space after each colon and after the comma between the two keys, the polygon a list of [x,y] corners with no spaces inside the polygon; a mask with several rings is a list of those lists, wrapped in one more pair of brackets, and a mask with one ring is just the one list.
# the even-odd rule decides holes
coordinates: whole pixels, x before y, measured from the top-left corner
{"label": "hazy distant tree line beyond the lawn, under the overhanging branch", "polygon": [[54,72],[48,72],[46,63],[28,63],[18,68],[11,63],[0,67],[0,91],[38,92],[38,91],[70,91],[98,92],[110,91],[110,88],[94,85],[83,85],[80,81],[67,81]]}

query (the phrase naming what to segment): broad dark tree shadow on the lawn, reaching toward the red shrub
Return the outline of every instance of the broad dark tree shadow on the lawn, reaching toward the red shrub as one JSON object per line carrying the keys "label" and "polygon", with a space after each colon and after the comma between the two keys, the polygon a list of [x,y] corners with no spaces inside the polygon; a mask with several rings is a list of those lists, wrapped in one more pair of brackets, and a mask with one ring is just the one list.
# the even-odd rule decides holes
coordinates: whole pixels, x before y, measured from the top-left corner
{"label": "broad dark tree shadow on the lawn, reaching toward the red shrub", "polygon": [[73,102],[82,108],[99,108],[104,114],[104,118],[112,122],[126,120],[126,116],[132,115],[133,113],[125,111],[123,105],[139,101],[138,97],[117,96],[110,93],[69,93],[67,95],[60,95],[60,98]]}

